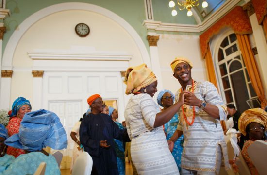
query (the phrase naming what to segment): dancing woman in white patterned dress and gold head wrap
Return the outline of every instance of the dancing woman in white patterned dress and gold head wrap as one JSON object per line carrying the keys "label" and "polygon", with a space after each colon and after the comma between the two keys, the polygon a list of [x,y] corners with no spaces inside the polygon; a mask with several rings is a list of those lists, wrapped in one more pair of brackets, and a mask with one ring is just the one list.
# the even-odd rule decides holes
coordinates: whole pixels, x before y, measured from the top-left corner
{"label": "dancing woman in white patterned dress and gold head wrap", "polygon": [[125,93],[134,94],[126,105],[124,116],[138,175],[179,175],[162,125],[183,105],[184,93],[177,103],[161,112],[152,99],[157,92],[157,79],[146,64],[128,68],[125,83]]}

